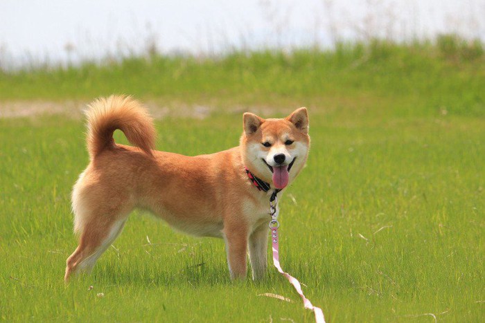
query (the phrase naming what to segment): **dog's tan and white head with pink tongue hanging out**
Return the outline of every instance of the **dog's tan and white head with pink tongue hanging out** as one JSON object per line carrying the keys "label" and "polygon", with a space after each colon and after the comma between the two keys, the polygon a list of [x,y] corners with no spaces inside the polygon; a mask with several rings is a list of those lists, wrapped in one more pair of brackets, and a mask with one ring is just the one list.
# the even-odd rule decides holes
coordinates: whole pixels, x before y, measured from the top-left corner
{"label": "dog's tan and white head with pink tongue hanging out", "polygon": [[245,166],[263,181],[283,189],[301,171],[310,149],[306,108],[284,119],[244,113],[243,125],[240,146]]}

